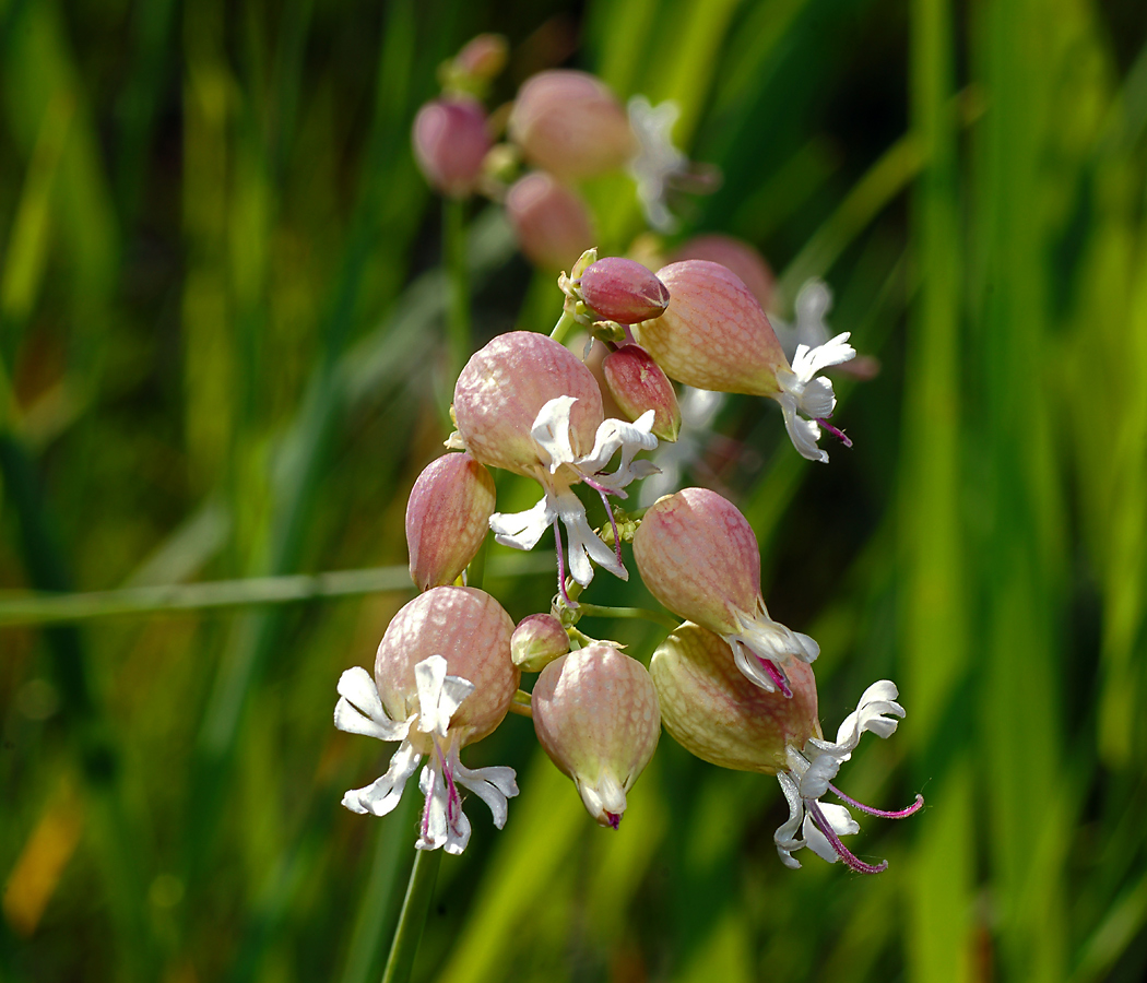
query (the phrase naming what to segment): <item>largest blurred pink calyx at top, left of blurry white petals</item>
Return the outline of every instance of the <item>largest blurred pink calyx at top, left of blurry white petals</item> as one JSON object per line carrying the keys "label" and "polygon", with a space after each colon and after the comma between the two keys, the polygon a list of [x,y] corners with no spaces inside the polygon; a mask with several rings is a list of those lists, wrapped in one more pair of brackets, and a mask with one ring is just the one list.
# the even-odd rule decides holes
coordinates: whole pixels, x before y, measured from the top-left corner
{"label": "largest blurred pink calyx at top, left of blurry white petals", "polygon": [[562,181],[618,170],[637,149],[612,93],[592,75],[567,69],[526,80],[514,101],[509,135],[526,161]]}

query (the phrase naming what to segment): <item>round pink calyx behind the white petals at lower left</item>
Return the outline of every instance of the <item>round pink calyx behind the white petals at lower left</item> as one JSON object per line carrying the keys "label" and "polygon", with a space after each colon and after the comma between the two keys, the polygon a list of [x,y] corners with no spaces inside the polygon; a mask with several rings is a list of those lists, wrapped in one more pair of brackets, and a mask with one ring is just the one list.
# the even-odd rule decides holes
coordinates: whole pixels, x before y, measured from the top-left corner
{"label": "round pink calyx behind the white petals at lower left", "polygon": [[[420,711],[414,666],[440,655],[450,676],[474,685],[451,719],[451,730],[462,735],[459,747],[482,740],[506,716],[522,677],[509,656],[513,632],[509,615],[484,591],[434,587],[419,594],[391,619],[375,655],[374,680],[387,716],[406,720]],[[422,738],[426,747],[416,750],[430,754],[429,735]]]}

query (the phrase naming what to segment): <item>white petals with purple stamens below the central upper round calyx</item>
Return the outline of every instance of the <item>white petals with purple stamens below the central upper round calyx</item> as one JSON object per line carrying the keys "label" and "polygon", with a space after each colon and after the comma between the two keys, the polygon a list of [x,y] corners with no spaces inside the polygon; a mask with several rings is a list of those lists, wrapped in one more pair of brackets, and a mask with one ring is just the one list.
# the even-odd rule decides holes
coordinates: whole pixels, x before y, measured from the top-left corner
{"label": "white petals with purple stamens below the central upper round calyx", "polygon": [[[585,506],[574,493],[572,485],[584,482],[596,491],[612,523],[612,510],[609,508],[607,496],[626,498],[624,491],[626,485],[656,471],[649,461],[633,460],[639,451],[651,451],[657,446],[657,438],[649,432],[654,411],[642,413],[633,423],[622,420],[603,421],[598,427],[593,450],[579,458],[570,444],[570,408],[576,401],[572,396],[551,399],[538,411],[530,428],[530,436],[538,450],[538,460],[548,461],[548,465],[539,466],[536,475],[543,487],[541,499],[533,508],[525,512],[496,512],[490,517],[494,539],[515,549],[532,549],[543,533],[549,526],[555,526],[559,584],[563,593],[565,562],[561,535],[556,529],[559,522],[565,526],[569,570],[577,583],[585,587],[593,580],[591,561],[604,567],[623,580],[629,579],[629,572],[622,565],[621,543],[616,533],[614,540],[617,543],[617,548],[610,549],[590,525]],[[622,455],[617,470],[609,475],[600,474],[618,450]]]}

